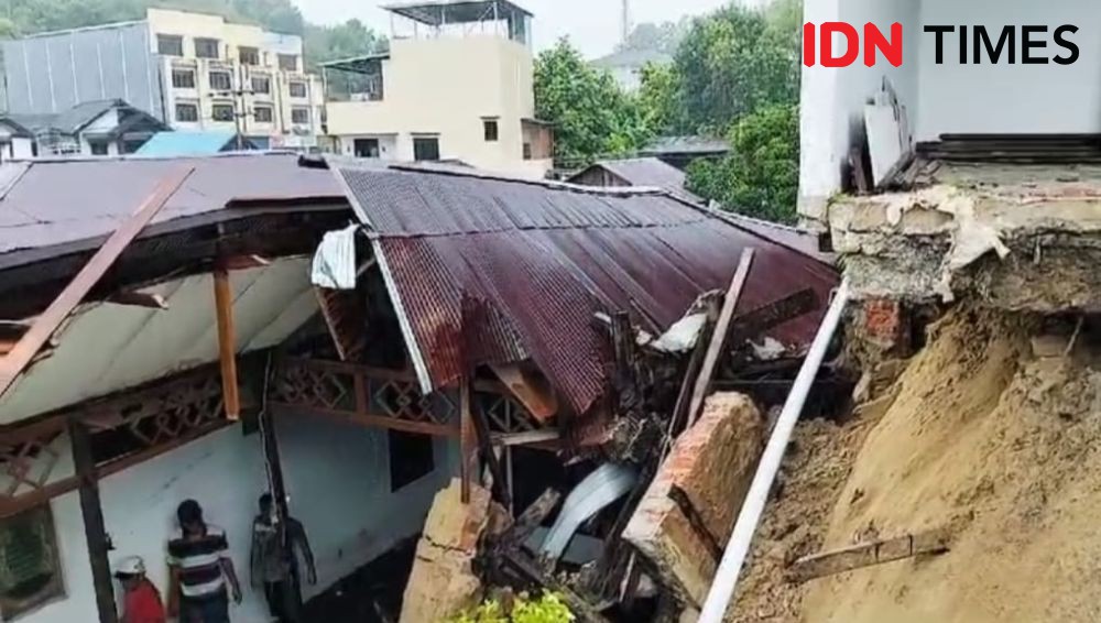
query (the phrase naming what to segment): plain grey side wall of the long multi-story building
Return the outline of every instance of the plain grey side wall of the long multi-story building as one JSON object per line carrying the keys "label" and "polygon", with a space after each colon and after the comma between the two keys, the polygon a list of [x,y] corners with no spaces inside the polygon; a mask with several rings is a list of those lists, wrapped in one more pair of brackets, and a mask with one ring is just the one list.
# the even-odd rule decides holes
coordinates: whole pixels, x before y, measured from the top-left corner
{"label": "plain grey side wall of the long multi-story building", "polygon": [[62,112],[124,99],[164,119],[161,76],[142,22],[42,34],[2,43],[10,112]]}

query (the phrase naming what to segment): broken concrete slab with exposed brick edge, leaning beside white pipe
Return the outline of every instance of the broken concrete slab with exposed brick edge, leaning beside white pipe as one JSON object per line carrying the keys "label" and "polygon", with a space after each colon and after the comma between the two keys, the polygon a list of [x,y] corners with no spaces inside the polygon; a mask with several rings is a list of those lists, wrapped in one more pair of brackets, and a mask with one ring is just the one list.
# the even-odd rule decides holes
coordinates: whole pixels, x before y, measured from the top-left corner
{"label": "broken concrete slab with exposed brick edge, leaning beside white pipe", "polygon": [[[707,595],[718,566],[707,540],[726,544],[764,436],[764,418],[749,397],[712,395],[699,420],[674,444],[623,533],[654,565],[661,583],[689,606],[698,606]],[[699,534],[669,496],[675,488],[710,536]]]}

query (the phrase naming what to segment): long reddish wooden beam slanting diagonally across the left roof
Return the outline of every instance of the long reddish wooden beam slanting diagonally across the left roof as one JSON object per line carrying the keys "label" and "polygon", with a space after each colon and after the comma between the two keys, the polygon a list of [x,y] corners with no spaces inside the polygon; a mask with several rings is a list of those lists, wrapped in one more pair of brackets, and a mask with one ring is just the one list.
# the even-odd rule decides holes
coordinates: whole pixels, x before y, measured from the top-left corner
{"label": "long reddish wooden beam slanting diagonally across the left roof", "polygon": [[15,379],[34,361],[42,347],[50,342],[65,318],[68,318],[76,306],[84,300],[119,255],[153,220],[194,171],[195,167],[187,166],[165,176],[133,216],[111,233],[76,277],[54,298],[46,310],[34,319],[19,342],[0,359],[0,396],[11,389]]}

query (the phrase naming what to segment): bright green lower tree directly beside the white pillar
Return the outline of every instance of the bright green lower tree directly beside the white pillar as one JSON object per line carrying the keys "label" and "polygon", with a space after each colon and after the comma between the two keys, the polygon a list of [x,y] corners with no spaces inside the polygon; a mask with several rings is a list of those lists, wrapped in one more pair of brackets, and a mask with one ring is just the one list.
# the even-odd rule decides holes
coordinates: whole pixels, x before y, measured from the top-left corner
{"label": "bright green lower tree directly beside the white pillar", "polygon": [[688,167],[688,188],[723,209],[794,223],[799,187],[799,111],[773,105],[745,116],[728,136],[731,153]]}

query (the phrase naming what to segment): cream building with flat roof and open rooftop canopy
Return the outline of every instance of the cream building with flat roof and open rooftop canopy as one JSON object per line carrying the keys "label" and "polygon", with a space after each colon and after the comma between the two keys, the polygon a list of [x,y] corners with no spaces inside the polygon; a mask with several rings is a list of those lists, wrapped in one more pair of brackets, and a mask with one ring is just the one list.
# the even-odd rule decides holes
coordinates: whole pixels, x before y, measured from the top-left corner
{"label": "cream building with flat roof and open rooftop canopy", "polygon": [[334,149],[546,175],[553,136],[535,119],[532,14],[506,0],[388,10],[395,26],[389,52],[323,66]]}

